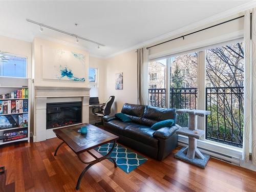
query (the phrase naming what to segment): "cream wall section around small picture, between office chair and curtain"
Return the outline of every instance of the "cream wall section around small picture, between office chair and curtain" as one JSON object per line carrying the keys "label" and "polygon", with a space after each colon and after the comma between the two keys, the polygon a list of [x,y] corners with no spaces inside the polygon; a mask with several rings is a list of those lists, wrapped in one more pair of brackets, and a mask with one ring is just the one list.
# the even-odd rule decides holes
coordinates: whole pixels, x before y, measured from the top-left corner
{"label": "cream wall section around small picture, between office chair and curtain", "polygon": [[[114,95],[112,112],[120,112],[125,102],[137,104],[137,53],[129,51],[105,59],[105,99]],[[115,75],[123,72],[123,90],[115,90]]]}

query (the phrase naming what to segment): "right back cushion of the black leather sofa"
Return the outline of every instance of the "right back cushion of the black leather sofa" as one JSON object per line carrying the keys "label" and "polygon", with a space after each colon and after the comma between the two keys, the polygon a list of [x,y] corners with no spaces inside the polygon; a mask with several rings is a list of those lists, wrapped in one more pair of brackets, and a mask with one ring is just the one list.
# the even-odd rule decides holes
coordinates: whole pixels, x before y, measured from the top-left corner
{"label": "right back cushion of the black leather sofa", "polygon": [[174,119],[176,121],[176,109],[156,108],[155,106],[145,106],[142,124],[152,126],[158,121]]}

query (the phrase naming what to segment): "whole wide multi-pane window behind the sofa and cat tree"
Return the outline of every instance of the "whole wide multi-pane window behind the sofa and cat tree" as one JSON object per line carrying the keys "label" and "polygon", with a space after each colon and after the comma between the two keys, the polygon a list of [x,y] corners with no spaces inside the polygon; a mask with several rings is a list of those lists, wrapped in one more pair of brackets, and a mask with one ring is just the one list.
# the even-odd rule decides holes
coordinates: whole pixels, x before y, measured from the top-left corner
{"label": "whole wide multi-pane window behind the sofa and cat tree", "polygon": [[[205,124],[206,140],[242,147],[244,129],[243,40],[223,42],[219,45],[200,48],[197,51],[175,54],[149,62],[149,103],[164,108],[205,108],[211,113],[205,119],[199,118],[199,121],[200,124]],[[205,59],[198,60],[198,55],[199,58],[205,57]],[[165,73],[160,73],[160,63],[164,66]],[[155,73],[157,73],[157,80],[152,81]],[[163,77],[163,83],[159,81],[161,77]],[[168,82],[165,82],[166,80]],[[157,84],[158,89],[152,89],[153,84]],[[200,89],[199,97],[198,88]],[[205,97],[201,97],[202,95]],[[187,126],[187,119],[186,115],[179,115],[177,123]]]}

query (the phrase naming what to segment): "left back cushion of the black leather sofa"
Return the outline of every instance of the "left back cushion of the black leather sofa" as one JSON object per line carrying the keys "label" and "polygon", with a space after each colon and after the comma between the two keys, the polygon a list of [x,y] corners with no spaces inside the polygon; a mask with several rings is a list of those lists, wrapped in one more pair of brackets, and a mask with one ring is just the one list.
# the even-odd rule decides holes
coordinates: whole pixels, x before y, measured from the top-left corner
{"label": "left back cushion of the black leather sofa", "polygon": [[129,116],[132,122],[141,124],[145,105],[124,103],[122,113]]}

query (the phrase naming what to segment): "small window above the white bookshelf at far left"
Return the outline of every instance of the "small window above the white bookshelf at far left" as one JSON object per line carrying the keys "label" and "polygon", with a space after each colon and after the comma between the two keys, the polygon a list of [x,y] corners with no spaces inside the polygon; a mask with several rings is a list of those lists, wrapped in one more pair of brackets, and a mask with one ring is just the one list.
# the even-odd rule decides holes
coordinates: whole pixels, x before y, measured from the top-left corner
{"label": "small window above the white bookshelf at far left", "polygon": [[0,54],[0,76],[27,77],[27,58]]}

